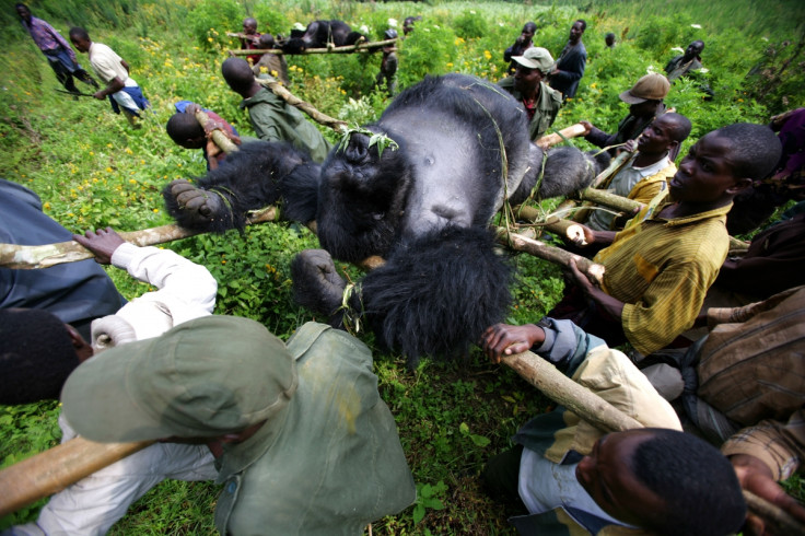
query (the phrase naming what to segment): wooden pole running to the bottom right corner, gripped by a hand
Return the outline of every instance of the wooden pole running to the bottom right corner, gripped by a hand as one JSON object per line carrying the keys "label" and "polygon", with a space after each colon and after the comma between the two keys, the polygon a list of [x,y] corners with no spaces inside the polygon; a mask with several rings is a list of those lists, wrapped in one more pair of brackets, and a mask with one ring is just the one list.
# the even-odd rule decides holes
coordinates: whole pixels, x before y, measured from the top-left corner
{"label": "wooden pole running to the bottom right corner, gripped by a hand", "polygon": [[[644,428],[597,394],[573,382],[548,361],[532,352],[503,356],[501,361],[514,369],[529,384],[548,398],[561,404],[583,420],[604,432],[621,432]],[[805,534],[805,525],[769,501],[744,491],[749,510],[778,531],[775,534]]]}

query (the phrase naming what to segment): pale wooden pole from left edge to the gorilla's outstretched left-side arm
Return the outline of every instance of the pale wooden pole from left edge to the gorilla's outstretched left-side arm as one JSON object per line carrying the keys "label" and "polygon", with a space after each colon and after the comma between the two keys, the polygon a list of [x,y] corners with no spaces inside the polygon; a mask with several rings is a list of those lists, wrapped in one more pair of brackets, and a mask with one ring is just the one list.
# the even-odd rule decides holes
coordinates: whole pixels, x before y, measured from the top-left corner
{"label": "pale wooden pole from left edge to the gorilla's outstretched left-side arm", "polygon": [[[254,225],[278,218],[277,207],[268,207],[252,217],[246,223]],[[187,238],[201,234],[202,231],[190,231],[178,225],[162,225],[159,228],[143,229],[120,233],[126,242],[137,246],[153,246],[179,238]],[[75,263],[93,258],[92,252],[78,242],[59,242],[57,244],[45,244],[40,246],[23,246],[19,244],[0,244],[0,267],[26,270],[33,268],[47,268],[63,263]]]}

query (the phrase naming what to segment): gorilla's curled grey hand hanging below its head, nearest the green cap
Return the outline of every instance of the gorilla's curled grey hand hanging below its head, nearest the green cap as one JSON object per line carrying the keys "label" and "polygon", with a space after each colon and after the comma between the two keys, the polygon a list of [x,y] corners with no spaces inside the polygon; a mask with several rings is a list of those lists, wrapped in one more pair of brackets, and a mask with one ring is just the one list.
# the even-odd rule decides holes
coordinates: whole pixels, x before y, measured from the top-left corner
{"label": "gorilla's curled grey hand hanging below its head, nearest the green cap", "polygon": [[291,263],[291,277],[300,305],[326,315],[332,315],[341,306],[347,283],[326,250],[305,249],[296,255]]}

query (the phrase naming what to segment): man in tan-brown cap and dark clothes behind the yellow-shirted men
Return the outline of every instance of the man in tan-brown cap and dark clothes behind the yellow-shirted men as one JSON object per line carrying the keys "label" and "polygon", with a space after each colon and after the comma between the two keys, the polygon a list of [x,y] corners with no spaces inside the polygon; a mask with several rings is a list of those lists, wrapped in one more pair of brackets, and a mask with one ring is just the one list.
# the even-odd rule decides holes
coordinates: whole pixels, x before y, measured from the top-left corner
{"label": "man in tan-brown cap and dark clothes behind the yellow-shirted men", "polygon": [[[633,140],[651,125],[656,116],[665,112],[663,100],[669,89],[668,79],[662,74],[654,72],[646,74],[638,80],[638,83],[630,90],[618,95],[621,101],[630,105],[629,115],[618,124],[618,131],[610,136],[595,128],[590,121],[580,121],[586,129],[584,139],[600,148],[620,145]],[[616,149],[609,149],[609,152],[615,155]],[[678,148],[670,154],[670,160],[675,160],[677,153]]]}

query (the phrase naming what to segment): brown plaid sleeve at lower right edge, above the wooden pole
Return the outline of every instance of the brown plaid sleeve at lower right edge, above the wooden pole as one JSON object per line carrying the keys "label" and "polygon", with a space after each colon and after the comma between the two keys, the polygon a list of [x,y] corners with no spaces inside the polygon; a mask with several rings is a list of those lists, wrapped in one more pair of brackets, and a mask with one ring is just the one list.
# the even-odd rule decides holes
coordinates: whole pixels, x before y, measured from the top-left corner
{"label": "brown plaid sleeve at lower right edge, above the wooden pole", "polygon": [[774,480],[789,478],[805,456],[805,410],[794,411],[788,422],[760,421],[730,438],[721,447],[725,456],[749,454],[771,469]]}

